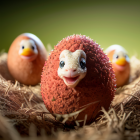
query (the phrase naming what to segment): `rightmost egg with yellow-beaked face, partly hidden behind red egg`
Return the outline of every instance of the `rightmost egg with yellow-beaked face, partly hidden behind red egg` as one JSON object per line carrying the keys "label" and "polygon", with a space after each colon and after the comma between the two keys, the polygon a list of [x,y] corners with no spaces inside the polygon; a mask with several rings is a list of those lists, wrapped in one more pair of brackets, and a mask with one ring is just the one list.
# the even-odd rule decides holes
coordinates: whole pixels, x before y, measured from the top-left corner
{"label": "rightmost egg with yellow-beaked face, partly hidden behind red egg", "polygon": [[126,50],[120,45],[111,45],[105,50],[116,75],[117,87],[127,84],[130,75],[130,62]]}

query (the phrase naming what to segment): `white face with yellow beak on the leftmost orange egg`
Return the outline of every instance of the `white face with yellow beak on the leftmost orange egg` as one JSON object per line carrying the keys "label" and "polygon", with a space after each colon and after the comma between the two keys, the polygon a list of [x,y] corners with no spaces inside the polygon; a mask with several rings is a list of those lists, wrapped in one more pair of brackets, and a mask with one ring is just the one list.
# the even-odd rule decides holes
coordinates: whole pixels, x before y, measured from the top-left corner
{"label": "white face with yellow beak on the leftmost orange egg", "polygon": [[38,55],[38,50],[35,42],[31,39],[22,40],[20,42],[19,55],[22,59],[33,61]]}

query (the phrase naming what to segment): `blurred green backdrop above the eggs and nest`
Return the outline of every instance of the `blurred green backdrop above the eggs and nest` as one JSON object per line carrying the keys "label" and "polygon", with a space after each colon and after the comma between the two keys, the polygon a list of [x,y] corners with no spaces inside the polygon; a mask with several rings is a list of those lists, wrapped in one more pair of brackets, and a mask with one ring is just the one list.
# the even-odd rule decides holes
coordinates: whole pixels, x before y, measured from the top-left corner
{"label": "blurred green backdrop above the eggs and nest", "polygon": [[104,50],[122,45],[140,58],[140,2],[136,0],[7,1],[0,4],[0,50],[21,33],[37,35],[52,47],[68,35],[89,36]]}

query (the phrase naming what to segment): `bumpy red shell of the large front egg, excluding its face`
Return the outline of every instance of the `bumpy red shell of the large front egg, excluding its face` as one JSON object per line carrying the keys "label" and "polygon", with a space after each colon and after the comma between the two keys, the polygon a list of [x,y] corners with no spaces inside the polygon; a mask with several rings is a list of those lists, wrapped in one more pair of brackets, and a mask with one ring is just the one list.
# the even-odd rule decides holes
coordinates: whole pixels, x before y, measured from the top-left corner
{"label": "bumpy red shell of the large front egg, excluding its face", "polygon": [[[75,88],[69,88],[58,76],[59,55],[63,50],[74,52],[83,50],[86,53],[87,74]],[[76,120],[87,124],[98,116],[101,107],[109,109],[115,93],[115,74],[109,58],[96,42],[82,35],[72,35],[60,41],[45,62],[41,78],[41,94],[47,109],[51,113],[69,114],[91,104]]]}

